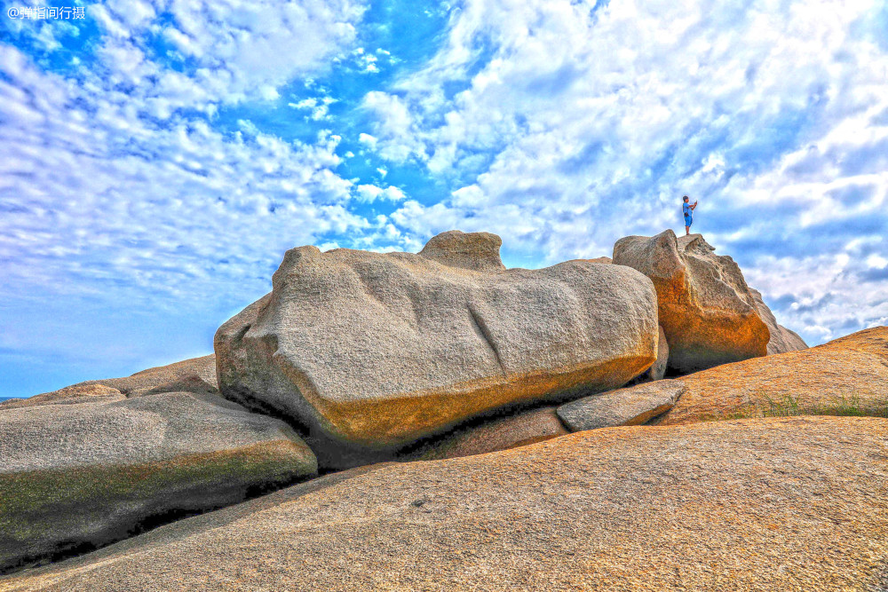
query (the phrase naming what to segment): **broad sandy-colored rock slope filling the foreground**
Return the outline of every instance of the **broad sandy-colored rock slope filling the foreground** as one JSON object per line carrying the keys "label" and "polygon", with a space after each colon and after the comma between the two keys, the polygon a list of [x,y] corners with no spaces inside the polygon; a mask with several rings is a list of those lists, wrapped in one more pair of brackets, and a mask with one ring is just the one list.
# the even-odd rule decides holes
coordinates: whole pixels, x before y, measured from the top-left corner
{"label": "broad sandy-colored rock slope filling the foreground", "polygon": [[876,590],[886,557],[888,420],[805,417],[330,475],[0,590]]}

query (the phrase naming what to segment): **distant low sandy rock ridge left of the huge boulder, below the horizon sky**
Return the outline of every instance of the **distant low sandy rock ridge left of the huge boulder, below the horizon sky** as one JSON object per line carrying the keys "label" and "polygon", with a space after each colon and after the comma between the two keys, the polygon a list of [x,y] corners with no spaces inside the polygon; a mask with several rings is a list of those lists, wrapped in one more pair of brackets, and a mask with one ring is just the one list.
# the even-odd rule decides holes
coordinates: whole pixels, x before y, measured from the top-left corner
{"label": "distant low sandy rock ridge left of the huge boulder, below the horizon sky", "polygon": [[123,378],[104,378],[72,384],[59,391],[44,392],[28,399],[11,399],[0,403],[0,409],[68,403],[107,403],[159,392],[218,394],[216,355],[148,368]]}

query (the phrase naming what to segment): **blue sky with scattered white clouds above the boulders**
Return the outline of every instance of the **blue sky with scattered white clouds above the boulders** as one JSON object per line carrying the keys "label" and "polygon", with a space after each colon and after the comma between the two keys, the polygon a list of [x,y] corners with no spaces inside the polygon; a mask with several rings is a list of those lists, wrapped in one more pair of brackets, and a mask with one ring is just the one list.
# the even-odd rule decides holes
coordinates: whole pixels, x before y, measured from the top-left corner
{"label": "blue sky with scattered white clouds above the boulders", "polygon": [[809,344],[888,324],[884,0],[0,4],[0,397],[210,353],[292,247],[537,268],[683,194]]}

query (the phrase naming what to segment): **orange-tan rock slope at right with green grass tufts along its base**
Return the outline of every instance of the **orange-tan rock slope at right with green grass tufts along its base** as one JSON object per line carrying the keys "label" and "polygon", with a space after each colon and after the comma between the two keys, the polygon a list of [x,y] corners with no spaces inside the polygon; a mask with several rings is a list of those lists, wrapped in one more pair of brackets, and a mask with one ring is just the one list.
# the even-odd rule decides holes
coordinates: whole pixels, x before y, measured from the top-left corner
{"label": "orange-tan rock slope at right with green grass tufts along its base", "polygon": [[[664,424],[769,412],[767,398],[799,413],[888,415],[888,327],[847,335],[816,347],[748,359],[682,376],[686,391]],[[833,410],[833,411],[831,411]]]}

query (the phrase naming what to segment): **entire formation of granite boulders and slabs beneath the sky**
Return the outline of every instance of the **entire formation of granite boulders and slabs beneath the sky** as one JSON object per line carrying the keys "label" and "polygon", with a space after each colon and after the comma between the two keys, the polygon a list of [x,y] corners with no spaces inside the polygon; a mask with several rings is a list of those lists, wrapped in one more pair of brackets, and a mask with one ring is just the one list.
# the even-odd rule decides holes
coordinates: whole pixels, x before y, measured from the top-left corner
{"label": "entire formation of granite boulders and slabs beneath the sky", "polygon": [[0,592],[888,585],[888,420],[769,416],[888,415],[888,328],[805,349],[700,235],[501,243],[292,249],[215,355],[0,404],[0,572],[133,537]]}

